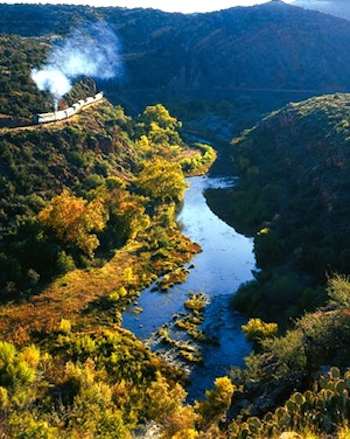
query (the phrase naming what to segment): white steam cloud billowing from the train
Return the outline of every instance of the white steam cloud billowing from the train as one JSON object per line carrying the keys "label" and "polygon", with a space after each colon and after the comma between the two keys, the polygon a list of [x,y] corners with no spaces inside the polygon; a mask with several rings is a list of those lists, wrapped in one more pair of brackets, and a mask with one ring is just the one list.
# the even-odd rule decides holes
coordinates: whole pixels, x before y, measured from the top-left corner
{"label": "white steam cloud billowing from the train", "polygon": [[119,40],[104,22],[89,24],[57,43],[44,66],[32,70],[32,79],[41,91],[49,91],[57,106],[80,76],[111,79],[120,76],[122,64]]}

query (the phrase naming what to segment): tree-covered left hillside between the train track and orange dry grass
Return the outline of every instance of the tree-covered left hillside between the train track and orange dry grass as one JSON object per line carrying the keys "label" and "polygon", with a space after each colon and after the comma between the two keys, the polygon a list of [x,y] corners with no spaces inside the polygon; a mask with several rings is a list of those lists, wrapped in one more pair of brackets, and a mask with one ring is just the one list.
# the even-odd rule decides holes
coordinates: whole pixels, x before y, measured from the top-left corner
{"label": "tree-covered left hillside between the train track and orange dry grass", "polygon": [[186,149],[179,126],[162,106],[133,121],[104,104],[56,126],[3,130],[2,296],[103,264],[158,204],[180,202],[182,170],[201,173],[215,154]]}

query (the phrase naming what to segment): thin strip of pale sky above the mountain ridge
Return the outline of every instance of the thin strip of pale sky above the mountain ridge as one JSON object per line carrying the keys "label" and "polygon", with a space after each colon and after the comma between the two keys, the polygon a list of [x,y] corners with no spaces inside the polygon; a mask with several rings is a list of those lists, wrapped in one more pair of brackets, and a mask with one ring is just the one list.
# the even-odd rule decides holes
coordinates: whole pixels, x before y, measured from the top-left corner
{"label": "thin strip of pale sky above the mountain ridge", "polygon": [[[208,12],[233,6],[252,6],[267,0],[0,0],[4,3],[69,3],[91,6],[123,6],[128,8],[156,8],[170,12]],[[293,0],[285,0],[292,3]],[[349,0],[350,2],[350,0]]]}

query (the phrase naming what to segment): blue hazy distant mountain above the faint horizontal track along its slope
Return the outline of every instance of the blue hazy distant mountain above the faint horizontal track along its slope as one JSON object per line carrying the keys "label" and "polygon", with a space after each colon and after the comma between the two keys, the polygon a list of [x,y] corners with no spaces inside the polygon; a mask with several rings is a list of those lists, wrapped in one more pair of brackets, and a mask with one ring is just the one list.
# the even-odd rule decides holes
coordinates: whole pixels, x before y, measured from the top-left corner
{"label": "blue hazy distant mountain above the faint horizontal track along its slope", "polygon": [[64,34],[104,19],[120,37],[129,89],[350,87],[350,23],[272,1],[208,14],[0,5],[0,32]]}

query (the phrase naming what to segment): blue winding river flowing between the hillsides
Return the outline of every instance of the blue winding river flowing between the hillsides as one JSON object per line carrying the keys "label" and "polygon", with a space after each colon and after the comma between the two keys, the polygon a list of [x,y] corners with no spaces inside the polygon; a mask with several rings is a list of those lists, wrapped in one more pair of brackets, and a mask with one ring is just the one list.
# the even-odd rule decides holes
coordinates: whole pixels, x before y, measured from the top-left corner
{"label": "blue winding river flowing between the hillsides", "polygon": [[[184,312],[189,292],[204,292],[210,303],[205,311],[202,329],[218,343],[202,344],[203,364],[191,368],[189,399],[200,398],[231,366],[240,366],[249,353],[240,327],[242,316],[232,311],[232,293],[244,282],[252,279],[255,257],[252,239],[237,233],[219,219],[207,205],[204,192],[207,188],[231,187],[232,180],[214,177],[188,179],[189,188],[178,221],[186,236],[202,246],[203,252],[192,261],[188,279],[167,293],[146,289],[140,299],[141,314],[132,310],[124,314],[124,327],[146,340],[164,324],[170,324],[174,314]],[[191,265],[190,264],[190,265]]]}

